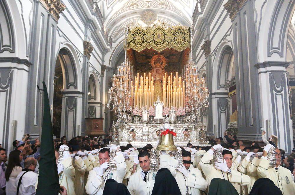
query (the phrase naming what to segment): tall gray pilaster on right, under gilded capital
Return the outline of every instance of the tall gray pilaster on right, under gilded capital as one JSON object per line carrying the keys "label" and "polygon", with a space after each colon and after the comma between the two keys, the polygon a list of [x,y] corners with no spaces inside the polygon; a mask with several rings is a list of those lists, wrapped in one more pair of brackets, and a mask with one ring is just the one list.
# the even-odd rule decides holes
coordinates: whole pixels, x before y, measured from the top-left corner
{"label": "tall gray pilaster on right, under gilded capital", "polygon": [[232,19],[239,139],[259,140],[259,82],[253,1],[246,1]]}

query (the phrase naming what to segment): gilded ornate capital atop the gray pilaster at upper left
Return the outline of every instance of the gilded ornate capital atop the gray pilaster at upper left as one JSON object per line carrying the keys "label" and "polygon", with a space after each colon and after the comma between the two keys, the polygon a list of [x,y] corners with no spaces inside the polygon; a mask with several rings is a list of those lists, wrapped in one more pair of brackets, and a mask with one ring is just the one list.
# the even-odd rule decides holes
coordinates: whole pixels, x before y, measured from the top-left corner
{"label": "gilded ornate capital atop the gray pilaster at upper left", "polygon": [[58,21],[59,14],[65,10],[66,6],[60,0],[40,0],[50,14]]}

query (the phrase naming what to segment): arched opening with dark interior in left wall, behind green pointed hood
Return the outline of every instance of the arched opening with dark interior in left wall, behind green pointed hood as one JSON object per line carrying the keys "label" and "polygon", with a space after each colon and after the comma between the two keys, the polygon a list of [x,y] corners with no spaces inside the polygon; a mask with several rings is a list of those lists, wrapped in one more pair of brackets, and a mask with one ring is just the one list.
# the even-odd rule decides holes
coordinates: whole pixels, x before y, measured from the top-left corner
{"label": "arched opening with dark interior in left wall, behind green pointed hood", "polygon": [[74,57],[68,48],[61,48],[55,63],[53,88],[53,131],[55,136],[71,139],[80,134],[82,92]]}

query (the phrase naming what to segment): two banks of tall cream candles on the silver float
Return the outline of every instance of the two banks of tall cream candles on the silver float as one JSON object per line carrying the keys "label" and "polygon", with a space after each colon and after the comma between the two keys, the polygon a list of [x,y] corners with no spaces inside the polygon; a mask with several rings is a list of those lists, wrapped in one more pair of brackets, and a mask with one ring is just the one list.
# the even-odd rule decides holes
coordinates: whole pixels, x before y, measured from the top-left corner
{"label": "two banks of tall cream candles on the silver float", "polygon": [[[146,107],[149,108],[153,106],[154,100],[154,78],[151,77],[149,73],[148,77],[143,74],[143,77],[139,79],[139,73],[134,79],[134,92],[133,92],[133,81],[131,81],[131,106],[132,107]],[[178,72],[176,72],[176,77],[172,75],[168,76],[165,73],[163,76],[163,103],[164,107],[176,108],[184,107],[185,105],[185,86],[184,81],[181,77],[178,77]],[[133,104],[134,103],[134,104]]]}

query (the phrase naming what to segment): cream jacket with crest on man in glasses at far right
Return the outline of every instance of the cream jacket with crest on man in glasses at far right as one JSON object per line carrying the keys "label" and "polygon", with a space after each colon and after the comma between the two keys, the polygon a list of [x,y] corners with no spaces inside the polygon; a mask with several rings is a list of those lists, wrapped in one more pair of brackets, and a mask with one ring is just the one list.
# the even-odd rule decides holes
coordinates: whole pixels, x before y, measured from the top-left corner
{"label": "cream jacket with crest on man in glasses at far right", "polygon": [[281,190],[284,195],[295,193],[295,183],[292,180],[291,171],[278,166],[278,169],[269,168],[269,160],[261,157],[259,166],[257,168],[257,175],[259,178],[269,178]]}

